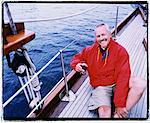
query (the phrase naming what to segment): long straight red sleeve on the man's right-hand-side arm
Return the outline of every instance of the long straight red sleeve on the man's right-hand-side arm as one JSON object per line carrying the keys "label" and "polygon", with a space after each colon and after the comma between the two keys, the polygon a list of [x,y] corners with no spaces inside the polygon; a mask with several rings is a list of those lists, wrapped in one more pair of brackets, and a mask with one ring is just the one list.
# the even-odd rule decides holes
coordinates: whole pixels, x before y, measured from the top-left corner
{"label": "long straight red sleeve on the man's right-hand-side arm", "polygon": [[116,107],[125,107],[131,74],[129,55],[124,48],[121,48],[117,57],[118,59],[116,61],[115,70],[116,88],[114,92],[114,104]]}

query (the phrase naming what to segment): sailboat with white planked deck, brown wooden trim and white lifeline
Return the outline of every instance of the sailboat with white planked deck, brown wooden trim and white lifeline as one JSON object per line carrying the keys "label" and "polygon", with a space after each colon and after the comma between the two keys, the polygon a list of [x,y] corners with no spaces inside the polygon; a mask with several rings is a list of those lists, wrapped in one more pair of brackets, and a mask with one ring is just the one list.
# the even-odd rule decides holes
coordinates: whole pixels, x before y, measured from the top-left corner
{"label": "sailboat with white planked deck, brown wooden trim and white lifeline", "polygon": [[[123,45],[129,52],[131,59],[131,69],[134,75],[141,76],[147,80],[147,16],[141,8],[136,8],[131,12],[124,20],[116,25],[111,30],[112,35],[115,35],[116,41]],[[16,24],[17,29],[24,29],[23,24]],[[20,26],[21,25],[21,26]],[[145,26],[146,25],[146,26]],[[7,25],[8,26],[8,25]],[[9,30],[9,29],[8,29]],[[21,38],[18,41],[16,38],[20,36],[27,38]],[[16,36],[16,37],[15,37]],[[35,36],[33,32],[20,32],[18,35],[10,36],[6,34],[8,44],[4,45],[4,53],[16,50],[22,47],[29,40],[32,40]],[[12,39],[11,41],[9,39]],[[17,40],[14,41],[13,40]],[[11,43],[13,42],[13,43]],[[63,78],[57,82],[51,91],[44,97],[38,100],[36,106],[33,106],[33,110],[26,117],[27,119],[98,119],[97,111],[88,110],[88,100],[92,87],[89,84],[89,76],[86,71],[85,74],[78,73],[72,70],[66,75],[64,68],[63,51],[68,48],[73,42],[67,45],[54,55],[54,57],[42,67],[41,70],[35,72],[32,77],[29,77],[22,87],[4,104],[3,108],[7,106],[13,98],[23,91],[29,83],[31,83],[47,66],[49,66],[58,56],[61,56]],[[20,46],[21,45],[21,46]],[[133,48],[134,46],[134,48]],[[136,56],[136,57],[135,57]],[[39,84],[39,83],[38,83]],[[147,104],[147,89],[144,91],[141,99],[130,110],[129,119],[147,119],[148,118],[148,104]],[[40,97],[40,96],[39,96]],[[40,107],[40,110],[37,110]]]}

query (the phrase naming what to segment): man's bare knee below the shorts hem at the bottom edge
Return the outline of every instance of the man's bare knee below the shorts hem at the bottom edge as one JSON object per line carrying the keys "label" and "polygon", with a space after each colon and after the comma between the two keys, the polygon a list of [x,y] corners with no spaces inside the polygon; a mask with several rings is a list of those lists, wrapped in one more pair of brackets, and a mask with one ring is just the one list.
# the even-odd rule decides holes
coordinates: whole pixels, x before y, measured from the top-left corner
{"label": "man's bare knee below the shorts hem at the bottom edge", "polygon": [[110,118],[111,117],[111,107],[110,106],[100,106],[98,108],[100,118]]}

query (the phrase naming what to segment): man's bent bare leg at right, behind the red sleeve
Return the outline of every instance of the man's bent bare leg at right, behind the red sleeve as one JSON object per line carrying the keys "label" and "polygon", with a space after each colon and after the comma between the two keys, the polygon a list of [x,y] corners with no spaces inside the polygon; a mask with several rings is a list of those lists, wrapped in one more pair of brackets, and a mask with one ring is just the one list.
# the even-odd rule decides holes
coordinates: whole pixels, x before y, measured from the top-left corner
{"label": "man's bent bare leg at right, behind the red sleeve", "polygon": [[[141,98],[144,90],[147,87],[147,82],[140,77],[131,77],[129,81],[129,93],[126,102],[126,109],[129,111]],[[114,118],[118,118],[118,115],[115,114]]]}

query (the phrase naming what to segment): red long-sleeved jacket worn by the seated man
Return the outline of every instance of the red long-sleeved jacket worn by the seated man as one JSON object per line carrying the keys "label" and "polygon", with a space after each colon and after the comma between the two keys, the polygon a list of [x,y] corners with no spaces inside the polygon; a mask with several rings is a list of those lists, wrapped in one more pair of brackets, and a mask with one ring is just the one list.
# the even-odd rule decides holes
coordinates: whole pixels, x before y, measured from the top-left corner
{"label": "red long-sleeved jacket worn by the seated man", "polygon": [[75,69],[77,63],[87,63],[92,87],[107,86],[115,83],[115,106],[125,107],[131,74],[129,55],[125,48],[113,39],[110,40],[107,49],[108,56],[105,60],[102,60],[102,53],[99,52],[99,44],[95,42],[92,46],[84,48],[81,53],[76,54],[72,58],[70,65]]}

